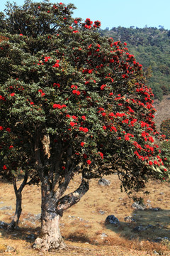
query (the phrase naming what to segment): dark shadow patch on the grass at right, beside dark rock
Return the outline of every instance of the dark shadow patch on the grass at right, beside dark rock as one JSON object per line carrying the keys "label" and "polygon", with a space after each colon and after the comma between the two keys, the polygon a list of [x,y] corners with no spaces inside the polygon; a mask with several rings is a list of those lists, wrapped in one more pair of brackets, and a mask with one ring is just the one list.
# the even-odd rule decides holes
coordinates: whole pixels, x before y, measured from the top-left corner
{"label": "dark shadow patch on the grass at right, beside dark rock", "polygon": [[159,242],[160,238],[170,239],[170,210],[134,210],[131,217],[132,221],[106,224],[105,228],[128,240]]}

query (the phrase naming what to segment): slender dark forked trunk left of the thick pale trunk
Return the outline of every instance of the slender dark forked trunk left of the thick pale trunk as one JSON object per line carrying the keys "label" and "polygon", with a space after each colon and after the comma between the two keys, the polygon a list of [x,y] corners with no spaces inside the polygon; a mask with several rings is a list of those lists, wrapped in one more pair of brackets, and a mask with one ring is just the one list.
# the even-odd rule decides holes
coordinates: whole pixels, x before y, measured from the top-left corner
{"label": "slender dark forked trunk left of the thick pale trunk", "polygon": [[13,188],[16,194],[16,211],[13,216],[13,220],[8,225],[8,230],[14,230],[18,227],[18,221],[22,213],[22,191],[23,191],[23,188],[26,186],[27,180],[28,180],[28,175],[26,173],[23,179],[23,183],[21,183],[21,186],[17,189],[16,178],[13,178]]}

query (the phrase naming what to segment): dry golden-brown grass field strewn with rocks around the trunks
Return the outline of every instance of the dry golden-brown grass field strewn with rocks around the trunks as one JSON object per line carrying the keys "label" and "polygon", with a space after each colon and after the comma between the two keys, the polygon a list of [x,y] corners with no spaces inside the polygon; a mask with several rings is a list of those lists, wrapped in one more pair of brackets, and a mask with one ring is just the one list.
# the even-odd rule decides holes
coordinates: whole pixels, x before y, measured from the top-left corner
{"label": "dry golden-brown grass field strewn with rocks around the trunks", "polygon": [[[118,176],[106,178],[111,181],[110,186],[103,187],[98,185],[98,180],[91,181],[88,193],[61,219],[60,228],[67,250],[45,254],[33,250],[33,240],[28,237],[40,234],[40,220],[35,220],[35,215],[40,213],[40,187],[26,186],[20,228],[13,232],[0,228],[0,255],[170,255],[170,241],[160,240],[170,238],[170,183],[150,181],[147,185],[150,193],[144,195],[147,208],[135,210],[132,199],[120,192]],[[78,186],[79,179],[79,176],[74,178],[69,191]],[[142,192],[140,194],[143,196]],[[0,220],[10,223],[15,210],[15,196],[9,183],[0,183],[0,208],[3,206],[11,206],[12,210],[0,210]],[[105,225],[108,215],[115,215],[120,225]],[[132,216],[135,221],[125,221],[126,216]],[[135,231],[134,228],[140,225],[142,230]],[[14,248],[13,252],[6,252],[8,246]]]}

